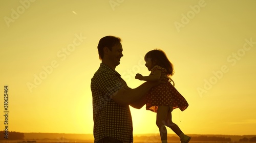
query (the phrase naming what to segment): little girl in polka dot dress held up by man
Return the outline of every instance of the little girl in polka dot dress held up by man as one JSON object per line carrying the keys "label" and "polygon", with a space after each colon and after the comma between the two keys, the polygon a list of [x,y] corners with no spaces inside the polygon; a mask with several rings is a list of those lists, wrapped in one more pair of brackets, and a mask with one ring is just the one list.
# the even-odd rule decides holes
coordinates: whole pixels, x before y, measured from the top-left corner
{"label": "little girl in polka dot dress held up by man", "polygon": [[166,127],[172,129],[181,140],[181,143],[187,143],[191,137],[184,135],[180,128],[172,122],[172,111],[175,108],[180,108],[181,111],[185,110],[188,106],[185,98],[174,88],[170,76],[174,74],[173,64],[169,62],[164,51],[155,49],[149,51],[145,55],[145,66],[148,71],[151,71],[149,76],[142,76],[136,74],[135,78],[145,81],[154,81],[165,78],[164,84],[159,84],[153,87],[146,94],[146,109],[157,112],[156,124],[159,128],[162,143],[167,142]]}

